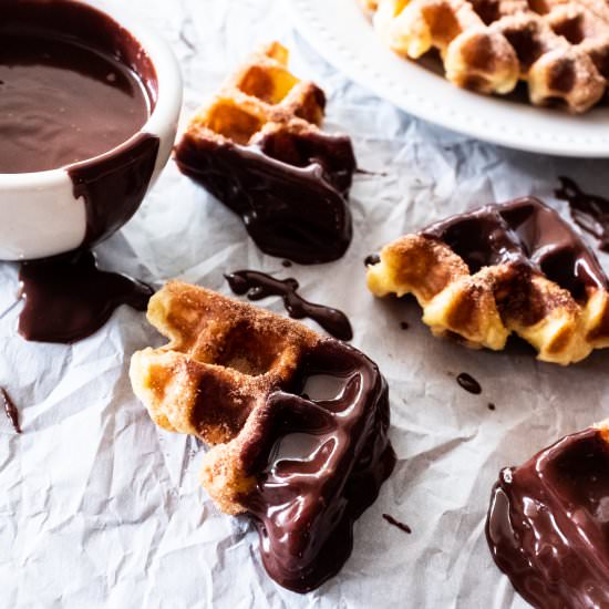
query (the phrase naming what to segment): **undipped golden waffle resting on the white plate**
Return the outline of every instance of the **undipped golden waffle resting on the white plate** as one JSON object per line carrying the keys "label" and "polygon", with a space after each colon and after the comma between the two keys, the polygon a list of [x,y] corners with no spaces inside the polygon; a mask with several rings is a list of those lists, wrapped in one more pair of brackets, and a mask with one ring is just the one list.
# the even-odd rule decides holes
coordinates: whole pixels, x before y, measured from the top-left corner
{"label": "undipped golden waffle resting on the white plate", "polygon": [[609,6],[598,0],[380,0],[374,24],[396,53],[435,49],[446,78],[482,93],[528,83],[530,102],[582,113],[605,94]]}

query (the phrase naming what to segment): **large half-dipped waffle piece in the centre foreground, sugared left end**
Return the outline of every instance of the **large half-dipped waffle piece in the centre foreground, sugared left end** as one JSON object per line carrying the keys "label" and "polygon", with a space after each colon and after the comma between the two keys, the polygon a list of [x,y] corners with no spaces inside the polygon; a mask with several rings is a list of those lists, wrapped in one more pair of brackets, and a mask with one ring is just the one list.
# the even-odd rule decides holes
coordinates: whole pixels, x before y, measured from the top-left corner
{"label": "large half-dipped waffle piece in the centre foreground, sugared left end", "polygon": [[211,448],[202,483],[248,514],[269,575],[298,592],[340,570],[353,522],[395,457],[388,386],[348,344],[204,288],[171,282],[148,307],[171,342],[133,355],[131,380],[159,426]]}

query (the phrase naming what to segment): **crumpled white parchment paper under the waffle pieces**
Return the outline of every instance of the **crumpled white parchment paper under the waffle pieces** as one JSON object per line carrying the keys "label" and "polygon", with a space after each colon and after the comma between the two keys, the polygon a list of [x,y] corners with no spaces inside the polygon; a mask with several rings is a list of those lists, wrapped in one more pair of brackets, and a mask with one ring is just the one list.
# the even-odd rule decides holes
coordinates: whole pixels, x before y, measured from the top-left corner
{"label": "crumpled white parchment paper under the waffle pieces", "polygon": [[[491,487],[502,466],[609,415],[609,352],[562,369],[522,348],[474,352],[433,339],[411,302],[372,298],[363,258],[405,231],[492,200],[534,194],[566,213],[553,198],[557,176],[603,193],[609,163],[509,152],[413,120],[321,60],[296,34],[281,0],[128,4],[179,56],[186,115],[250,49],[277,38],[291,48],[296,73],[328,93],[327,127],[352,136],[362,168],[386,175],[355,177],[354,237],[341,260],[285,269],[169,163],[137,215],[97,248],[103,267],[157,287],[180,277],[225,293],[223,272],[239,268],[298,278],[306,298],[349,314],[353,344],[388,378],[399,463],[357,523],[341,574],[307,596],[286,591],[266,576],[247,520],[219,514],[198,486],[203,448],[159,432],[132,395],[131,353],[161,343],[144,316],[122,307],[90,339],[44,345],[17,334],[16,307],[0,320],[0,384],[23,426],[16,436],[0,416],[0,606],[524,607],[484,539]],[[601,261],[609,270],[609,257]],[[4,311],[18,289],[14,265],[0,265],[0,283]],[[283,311],[278,299],[261,304]],[[457,385],[460,372],[481,382],[482,395]]]}

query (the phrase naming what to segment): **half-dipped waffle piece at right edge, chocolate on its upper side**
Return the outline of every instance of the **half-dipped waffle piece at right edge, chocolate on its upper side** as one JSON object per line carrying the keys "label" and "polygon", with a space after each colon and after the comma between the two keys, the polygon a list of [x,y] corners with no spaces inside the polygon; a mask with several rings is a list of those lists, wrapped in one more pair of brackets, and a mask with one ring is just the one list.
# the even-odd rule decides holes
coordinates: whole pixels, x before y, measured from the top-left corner
{"label": "half-dipped waffle piece at right edge, chocolate on its upper side", "polygon": [[534,197],[481,207],[385,246],[376,296],[412,292],[435,336],[500,350],[510,332],[569,364],[609,347],[608,280],[595,255]]}

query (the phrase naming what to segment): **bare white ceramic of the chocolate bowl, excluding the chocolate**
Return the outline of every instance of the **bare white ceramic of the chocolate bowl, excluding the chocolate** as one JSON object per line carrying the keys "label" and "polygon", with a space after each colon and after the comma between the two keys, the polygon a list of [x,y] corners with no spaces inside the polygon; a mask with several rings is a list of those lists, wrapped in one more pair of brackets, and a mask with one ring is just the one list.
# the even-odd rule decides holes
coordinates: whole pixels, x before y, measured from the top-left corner
{"label": "bare white ceramic of the chocolate bowl, excluding the chocolate", "polygon": [[[81,0],[81,3],[104,12],[127,30],[155,68],[156,105],[146,124],[127,141],[142,133],[158,137],[152,186],[169,158],[176,136],[182,107],[182,75],[177,60],[163,38],[124,12],[117,3],[99,0]],[[0,260],[27,260],[70,251],[83,244],[85,230],[84,200],[74,197],[73,183],[65,168],[0,174]]]}

